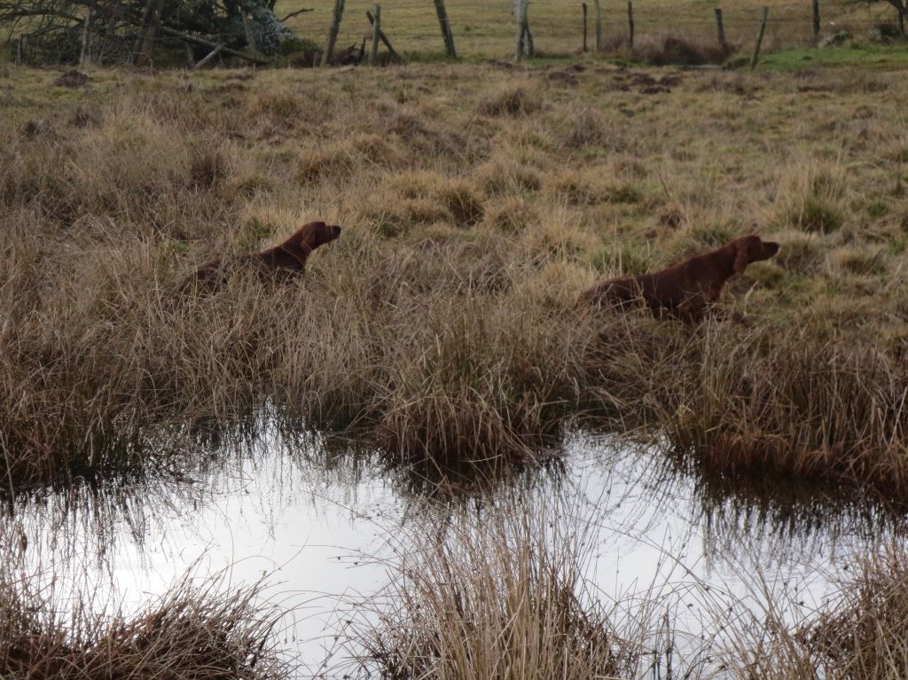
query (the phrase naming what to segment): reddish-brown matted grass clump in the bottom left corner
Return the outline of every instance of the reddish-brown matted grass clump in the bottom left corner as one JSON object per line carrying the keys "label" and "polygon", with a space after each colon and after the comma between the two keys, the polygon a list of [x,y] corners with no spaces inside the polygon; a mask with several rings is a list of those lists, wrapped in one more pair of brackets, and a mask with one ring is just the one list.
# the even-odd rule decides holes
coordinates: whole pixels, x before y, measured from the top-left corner
{"label": "reddish-brown matted grass clump in the bottom left corner", "polygon": [[91,598],[59,614],[46,589],[0,582],[0,674],[46,678],[281,678],[279,616],[254,602],[256,588],[222,592],[189,579],[131,616],[98,617]]}

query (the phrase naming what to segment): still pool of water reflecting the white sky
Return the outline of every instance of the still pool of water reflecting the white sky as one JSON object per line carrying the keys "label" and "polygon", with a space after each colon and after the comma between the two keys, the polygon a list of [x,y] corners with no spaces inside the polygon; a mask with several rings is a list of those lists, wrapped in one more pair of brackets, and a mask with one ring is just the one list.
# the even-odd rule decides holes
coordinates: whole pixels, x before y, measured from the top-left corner
{"label": "still pool of water reflecting the white sky", "polygon": [[268,421],[198,448],[205,462],[176,480],[17,501],[0,519],[27,541],[17,568],[43,575],[54,606],[88,597],[98,613],[135,611],[187,572],[222,572],[224,586],[263,579],[262,596],[289,612],[281,646],[299,675],[341,677],[356,671],[344,622],[370,616],[358,605],[388,584],[394,549],[419,542],[410,528],[443,527],[453,512],[481,517],[502,495],[591,527],[591,592],[626,613],[667,616],[675,653],[688,658],[734,644],[725,623],[759,621],[770,602],[787,603],[780,616],[795,625],[836,595],[855,556],[906,534],[890,508],[707,483],[657,446],[585,433],[567,439],[557,464],[429,498],[355,442]]}

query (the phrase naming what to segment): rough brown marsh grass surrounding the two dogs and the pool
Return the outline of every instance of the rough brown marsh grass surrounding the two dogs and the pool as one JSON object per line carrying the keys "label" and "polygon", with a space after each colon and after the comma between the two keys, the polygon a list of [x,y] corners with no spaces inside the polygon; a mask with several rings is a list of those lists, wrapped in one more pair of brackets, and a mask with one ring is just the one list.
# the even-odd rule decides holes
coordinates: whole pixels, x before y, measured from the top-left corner
{"label": "rough brown marsh grass surrounding the two dogs and the pool", "polygon": [[[214,424],[254,422],[262,409],[282,428],[355,430],[381,466],[409,470],[400,493],[417,498],[427,486],[484,498],[502,476],[532,476],[543,459],[557,467],[577,428],[653,443],[725,495],[753,478],[809,482],[820,496],[846,488],[873,508],[908,495],[908,85],[898,71],[590,59],[97,70],[80,88],[54,85],[58,76],[0,66],[0,479],[11,497],[74,478],[188,475],[209,457]],[[202,261],[314,219],[344,231],[304,280],[269,288],[240,277],[212,296],[175,294]],[[752,231],[783,250],[726,291],[746,323],[574,310],[598,278]],[[493,676],[438,660],[476,661],[496,626],[519,621],[520,636],[498,642],[538,655],[501,651],[509,668],[642,672],[651,617],[622,627],[579,593],[582,540],[556,532],[534,543],[538,508],[504,504],[481,529],[452,512],[452,542],[392,581],[406,588],[399,606],[375,619],[391,635],[357,634],[373,670]],[[2,521],[3,549],[28,555],[37,537],[15,510]],[[767,625],[772,642],[746,628],[754,635],[742,633],[725,671],[899,676],[903,534],[880,535],[887,546],[866,550],[841,603],[800,628]],[[477,556],[496,536],[514,549],[483,572]],[[445,574],[457,576],[449,592]],[[181,599],[178,588],[162,611],[185,618],[152,608],[90,625],[89,606],[83,619],[48,618],[37,583],[12,568],[0,576],[16,631],[0,636],[13,640],[0,646],[11,673],[129,665],[125,652],[101,654],[148,649],[134,622],[165,619],[208,636],[187,643],[205,652],[193,663],[211,653],[232,659],[227,676],[271,672],[258,655],[275,648],[262,625],[272,615],[251,613],[246,591],[219,601]],[[470,614],[509,596],[514,608],[498,617]],[[450,629],[427,633],[425,611]]]}

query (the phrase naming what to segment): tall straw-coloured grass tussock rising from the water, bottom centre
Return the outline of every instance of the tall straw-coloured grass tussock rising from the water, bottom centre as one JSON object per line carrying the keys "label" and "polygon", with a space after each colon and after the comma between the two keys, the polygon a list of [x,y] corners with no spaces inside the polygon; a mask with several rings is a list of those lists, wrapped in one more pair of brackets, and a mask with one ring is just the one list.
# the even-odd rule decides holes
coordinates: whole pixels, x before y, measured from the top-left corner
{"label": "tall straw-coloured grass tussock rising from the water, bottom centre", "polygon": [[588,525],[551,510],[506,501],[414,534],[420,547],[393,566],[388,604],[360,625],[362,664],[401,680],[631,673],[636,646],[585,590]]}

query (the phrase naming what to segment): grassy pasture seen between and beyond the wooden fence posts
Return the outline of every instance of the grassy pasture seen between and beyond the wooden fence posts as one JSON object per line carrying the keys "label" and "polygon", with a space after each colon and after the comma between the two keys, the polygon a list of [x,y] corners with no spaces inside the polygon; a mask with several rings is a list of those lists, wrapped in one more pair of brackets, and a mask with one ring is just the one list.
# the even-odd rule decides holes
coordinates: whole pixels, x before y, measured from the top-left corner
{"label": "grassy pasture seen between and beyond the wooden fence posts", "polygon": [[[766,0],[762,0],[765,2]],[[328,40],[335,0],[280,0],[275,12],[291,15],[287,25],[296,34],[323,46]],[[668,38],[686,43],[722,47],[722,54],[735,49],[749,50],[755,43],[761,25],[761,0],[740,0],[729,7],[721,0],[600,0],[601,48],[621,53],[630,47],[631,27],[628,5],[633,14],[633,46],[638,50],[662,44]],[[772,2],[772,0],[768,0]],[[749,5],[747,3],[750,3]],[[366,16],[375,3],[370,0],[347,0],[339,26],[337,49],[360,47],[370,40],[372,28]],[[400,53],[411,57],[432,57],[444,54],[445,44],[439,18],[431,0],[388,0],[381,3],[381,29]],[[589,0],[587,21],[584,22],[584,3],[581,0],[529,0],[528,22],[538,56],[577,54],[586,43],[590,51],[596,48],[596,5]],[[818,0],[819,30],[814,32],[814,0],[778,2],[768,5],[764,51],[816,44],[824,37],[841,32],[855,36],[894,34],[897,15],[891,5],[864,0]],[[301,9],[311,9],[301,13]],[[445,3],[449,26],[460,58],[500,59],[515,53],[518,22],[513,0],[448,0]],[[722,30],[716,21],[721,10]],[[586,31],[585,31],[586,26]],[[76,27],[73,31],[76,32]],[[586,34],[586,40],[585,40]],[[720,44],[720,35],[721,41]],[[53,44],[13,44],[16,61],[24,63],[73,62],[78,60],[79,35],[72,40]],[[209,36],[212,40],[229,43],[243,34]],[[103,36],[94,38],[100,52]],[[127,58],[114,54],[123,44],[132,44],[132,35],[119,35],[109,48],[109,61]],[[155,44],[170,54],[184,54],[187,63],[199,58],[199,49],[178,38],[158,34]],[[68,51],[63,44],[69,45]],[[119,47],[118,47],[119,45]],[[727,47],[727,49],[726,49]],[[114,58],[116,57],[116,58]],[[177,57],[179,58],[179,57]],[[172,56],[173,59],[173,56]]]}

